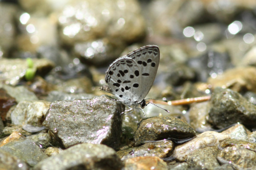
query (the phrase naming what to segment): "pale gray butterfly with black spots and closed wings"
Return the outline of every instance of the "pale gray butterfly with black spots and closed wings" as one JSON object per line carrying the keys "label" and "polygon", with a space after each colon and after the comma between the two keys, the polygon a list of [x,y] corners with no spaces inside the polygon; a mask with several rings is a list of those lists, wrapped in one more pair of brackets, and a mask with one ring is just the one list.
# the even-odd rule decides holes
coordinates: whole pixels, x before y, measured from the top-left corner
{"label": "pale gray butterfly with black spots and closed wings", "polygon": [[[134,108],[142,110],[150,103],[146,104],[144,98],[154,83],[159,59],[160,51],[156,45],[146,45],[119,57],[106,70],[105,82],[109,87],[101,89],[112,92],[118,101],[130,108],[124,112]],[[137,107],[139,105],[141,108]]]}

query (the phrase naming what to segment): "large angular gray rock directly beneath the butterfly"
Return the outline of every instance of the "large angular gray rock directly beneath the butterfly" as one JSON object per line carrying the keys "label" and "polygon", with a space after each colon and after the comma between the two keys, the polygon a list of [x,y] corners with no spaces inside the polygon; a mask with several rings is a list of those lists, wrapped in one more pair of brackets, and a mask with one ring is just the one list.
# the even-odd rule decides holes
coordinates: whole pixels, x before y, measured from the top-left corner
{"label": "large angular gray rock directly beneath the butterfly", "polygon": [[65,148],[83,142],[117,147],[124,105],[106,95],[51,103],[43,125]]}

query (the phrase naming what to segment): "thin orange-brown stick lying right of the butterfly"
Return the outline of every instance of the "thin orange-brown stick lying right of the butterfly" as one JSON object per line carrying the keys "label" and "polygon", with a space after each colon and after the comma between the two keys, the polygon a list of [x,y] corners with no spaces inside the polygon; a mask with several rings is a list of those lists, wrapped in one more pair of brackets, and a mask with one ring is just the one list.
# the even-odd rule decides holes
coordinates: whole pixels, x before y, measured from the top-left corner
{"label": "thin orange-brown stick lying right of the butterfly", "polygon": [[190,103],[194,102],[204,102],[210,100],[210,96],[203,96],[203,97],[198,97],[198,98],[188,98],[188,99],[181,99],[181,100],[176,100],[176,101],[168,101],[167,103],[164,101],[154,101],[150,100],[152,103],[158,103],[162,105],[188,105]]}

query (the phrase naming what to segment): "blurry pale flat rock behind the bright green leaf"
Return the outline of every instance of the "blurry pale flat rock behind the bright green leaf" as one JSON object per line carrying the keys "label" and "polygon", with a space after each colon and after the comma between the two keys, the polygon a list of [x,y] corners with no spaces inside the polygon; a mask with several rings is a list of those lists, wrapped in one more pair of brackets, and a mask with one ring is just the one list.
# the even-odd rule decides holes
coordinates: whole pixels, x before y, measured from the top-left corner
{"label": "blurry pale flat rock behind the bright green leaf", "polygon": [[[53,68],[53,63],[47,59],[32,59],[35,70],[38,75],[46,75]],[[15,86],[25,76],[28,68],[25,59],[1,59],[0,62],[0,79],[5,84]],[[15,98],[15,96],[14,96]]]}

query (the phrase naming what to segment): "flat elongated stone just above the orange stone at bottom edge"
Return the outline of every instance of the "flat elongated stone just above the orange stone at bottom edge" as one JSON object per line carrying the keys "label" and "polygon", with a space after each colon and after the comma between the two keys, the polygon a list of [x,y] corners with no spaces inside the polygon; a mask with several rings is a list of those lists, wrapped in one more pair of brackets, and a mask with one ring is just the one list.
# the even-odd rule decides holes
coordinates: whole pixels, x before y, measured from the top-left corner
{"label": "flat elongated stone just above the orange stone at bottom edge", "polygon": [[171,140],[148,142],[140,147],[127,148],[117,152],[121,160],[134,158],[138,156],[157,156],[160,158],[167,157],[168,153],[173,150]]}

